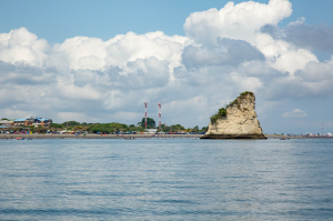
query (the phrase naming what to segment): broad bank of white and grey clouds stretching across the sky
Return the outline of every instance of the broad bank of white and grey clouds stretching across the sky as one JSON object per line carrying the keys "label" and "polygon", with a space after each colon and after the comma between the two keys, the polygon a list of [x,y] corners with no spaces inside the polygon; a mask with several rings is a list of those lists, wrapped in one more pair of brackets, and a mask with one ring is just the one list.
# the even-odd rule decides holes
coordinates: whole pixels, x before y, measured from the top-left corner
{"label": "broad bank of white and grey clouds stretching across the sky", "polygon": [[143,102],[154,117],[161,101],[167,124],[202,127],[245,90],[268,103],[332,99],[333,59],[320,62],[312,52],[332,52],[332,27],[296,21],[280,29],[291,13],[287,0],[229,2],[191,13],[184,37],[128,32],[51,46],[26,28],[0,33],[0,113],[135,123]]}

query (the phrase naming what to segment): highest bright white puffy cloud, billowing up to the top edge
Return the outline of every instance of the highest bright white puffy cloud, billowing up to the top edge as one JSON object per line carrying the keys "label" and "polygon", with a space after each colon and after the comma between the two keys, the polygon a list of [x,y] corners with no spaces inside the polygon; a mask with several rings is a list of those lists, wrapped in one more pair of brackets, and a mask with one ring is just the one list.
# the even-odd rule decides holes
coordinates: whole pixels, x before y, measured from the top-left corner
{"label": "highest bright white puffy cloud, billowing up to the top edge", "polygon": [[218,38],[254,42],[255,32],[264,24],[276,26],[292,13],[287,0],[270,0],[268,4],[254,1],[234,4],[228,2],[222,9],[191,13],[184,23],[186,34],[198,43],[215,43]]}

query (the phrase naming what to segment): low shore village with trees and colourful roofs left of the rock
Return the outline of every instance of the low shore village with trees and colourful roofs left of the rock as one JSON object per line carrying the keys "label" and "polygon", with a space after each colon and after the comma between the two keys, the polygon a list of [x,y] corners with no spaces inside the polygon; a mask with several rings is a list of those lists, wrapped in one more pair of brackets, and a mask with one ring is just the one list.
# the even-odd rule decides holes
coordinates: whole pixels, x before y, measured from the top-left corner
{"label": "low shore village with trees and colourful roofs left of the rock", "polygon": [[12,134],[204,134],[206,127],[188,128],[180,124],[155,127],[155,121],[148,118],[145,127],[144,119],[135,124],[123,123],[85,123],[77,121],[67,121],[63,123],[53,123],[52,119],[30,117],[22,119],[0,120],[0,133]]}

